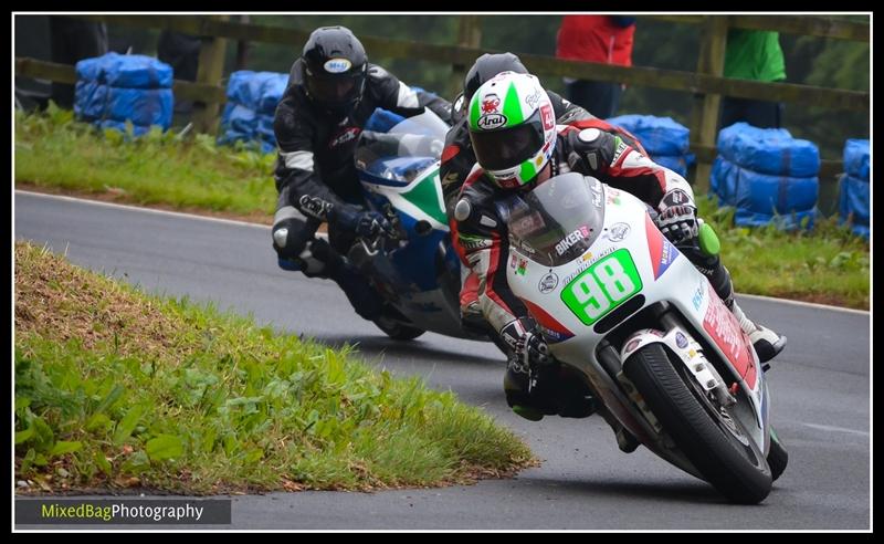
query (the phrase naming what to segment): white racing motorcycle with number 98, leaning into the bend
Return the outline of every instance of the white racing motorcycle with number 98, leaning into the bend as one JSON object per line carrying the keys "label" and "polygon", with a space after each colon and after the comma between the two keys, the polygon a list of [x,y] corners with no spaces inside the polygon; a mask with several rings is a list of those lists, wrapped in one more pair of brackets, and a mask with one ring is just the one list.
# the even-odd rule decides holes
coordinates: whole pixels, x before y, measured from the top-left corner
{"label": "white racing motorcycle with number 98, leaning into the bend", "polygon": [[765,373],[648,206],[570,172],[497,207],[511,289],[550,354],[586,380],[620,448],[641,442],[730,501],[762,501],[788,461]]}

